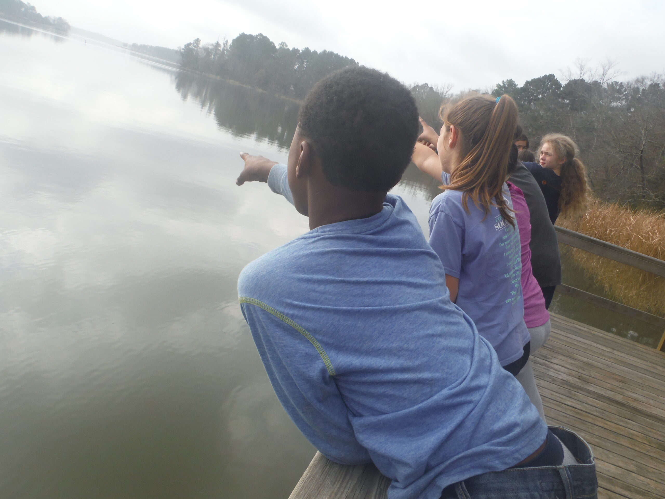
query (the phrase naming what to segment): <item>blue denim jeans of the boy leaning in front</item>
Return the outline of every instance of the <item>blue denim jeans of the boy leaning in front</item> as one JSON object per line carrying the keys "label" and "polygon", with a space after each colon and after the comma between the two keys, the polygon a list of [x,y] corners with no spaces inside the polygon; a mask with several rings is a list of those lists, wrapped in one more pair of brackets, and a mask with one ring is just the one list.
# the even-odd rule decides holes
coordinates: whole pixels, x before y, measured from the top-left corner
{"label": "blue denim jeans of the boy leaning in front", "polygon": [[446,487],[441,499],[597,499],[596,464],[587,442],[566,428],[549,429],[580,464],[483,473]]}

